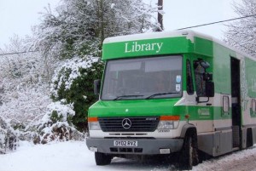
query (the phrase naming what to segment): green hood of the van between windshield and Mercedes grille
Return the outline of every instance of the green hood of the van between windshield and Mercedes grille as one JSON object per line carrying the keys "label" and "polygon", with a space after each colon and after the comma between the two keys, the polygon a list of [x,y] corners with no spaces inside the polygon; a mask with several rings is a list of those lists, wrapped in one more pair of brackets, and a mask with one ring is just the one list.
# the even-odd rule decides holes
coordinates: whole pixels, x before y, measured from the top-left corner
{"label": "green hood of the van between windshield and Mercedes grille", "polygon": [[102,100],[92,105],[90,117],[162,116],[172,115],[179,99]]}

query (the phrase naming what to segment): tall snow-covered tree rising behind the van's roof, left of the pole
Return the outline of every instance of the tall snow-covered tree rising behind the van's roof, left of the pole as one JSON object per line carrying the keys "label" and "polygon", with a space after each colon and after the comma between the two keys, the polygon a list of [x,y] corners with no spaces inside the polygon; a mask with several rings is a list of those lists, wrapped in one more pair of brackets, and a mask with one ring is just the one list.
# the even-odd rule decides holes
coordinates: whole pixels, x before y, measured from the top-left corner
{"label": "tall snow-covered tree rising behind the van's roof, left of the pole", "polygon": [[157,9],[143,0],[62,0],[52,11],[42,14],[35,27],[36,48],[55,52],[59,59],[84,54],[99,56],[106,37],[148,31],[158,26],[153,20]]}

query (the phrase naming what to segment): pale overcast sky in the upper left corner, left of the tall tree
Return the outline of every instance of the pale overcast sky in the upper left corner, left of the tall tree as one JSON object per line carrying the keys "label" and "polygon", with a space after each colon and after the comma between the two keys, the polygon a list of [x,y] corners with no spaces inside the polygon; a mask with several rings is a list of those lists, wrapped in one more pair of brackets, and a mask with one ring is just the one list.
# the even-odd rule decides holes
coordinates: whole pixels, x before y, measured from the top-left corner
{"label": "pale overcast sky in the upper left corner, left of the tall tree", "polygon": [[9,37],[31,34],[39,23],[40,12],[48,4],[57,6],[59,0],[0,0],[0,48],[9,43]]}

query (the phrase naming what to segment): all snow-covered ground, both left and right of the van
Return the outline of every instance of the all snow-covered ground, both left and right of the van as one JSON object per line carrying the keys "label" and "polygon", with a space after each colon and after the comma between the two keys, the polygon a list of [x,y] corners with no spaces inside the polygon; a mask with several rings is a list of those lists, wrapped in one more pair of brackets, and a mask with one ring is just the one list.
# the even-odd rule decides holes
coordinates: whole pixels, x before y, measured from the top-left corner
{"label": "all snow-covered ground, both left and right of the van", "polygon": [[[176,170],[165,162],[137,162],[113,158],[108,166],[96,166],[93,152],[85,142],[67,141],[48,145],[32,145],[20,142],[17,151],[0,155],[0,171],[103,171]],[[195,171],[205,170],[256,170],[256,148],[237,151],[224,157],[208,160],[194,167]]]}

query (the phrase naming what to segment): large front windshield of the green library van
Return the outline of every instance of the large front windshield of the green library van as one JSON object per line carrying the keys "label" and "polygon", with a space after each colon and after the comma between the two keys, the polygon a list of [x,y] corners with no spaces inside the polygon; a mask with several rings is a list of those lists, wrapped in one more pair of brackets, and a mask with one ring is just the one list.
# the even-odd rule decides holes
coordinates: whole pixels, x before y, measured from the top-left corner
{"label": "large front windshield of the green library van", "polygon": [[181,97],[182,60],[182,56],[109,60],[102,100]]}

